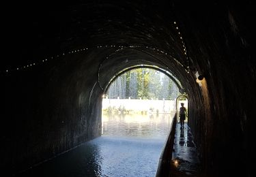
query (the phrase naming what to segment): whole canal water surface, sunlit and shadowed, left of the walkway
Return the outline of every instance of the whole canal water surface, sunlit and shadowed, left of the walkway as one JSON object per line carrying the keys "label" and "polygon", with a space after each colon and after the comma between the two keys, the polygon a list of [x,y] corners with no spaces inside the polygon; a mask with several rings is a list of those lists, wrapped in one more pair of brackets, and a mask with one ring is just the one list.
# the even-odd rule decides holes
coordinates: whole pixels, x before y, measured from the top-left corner
{"label": "whole canal water surface, sunlit and shadowed, left of the walkway", "polygon": [[173,114],[102,115],[102,135],[17,176],[155,176]]}

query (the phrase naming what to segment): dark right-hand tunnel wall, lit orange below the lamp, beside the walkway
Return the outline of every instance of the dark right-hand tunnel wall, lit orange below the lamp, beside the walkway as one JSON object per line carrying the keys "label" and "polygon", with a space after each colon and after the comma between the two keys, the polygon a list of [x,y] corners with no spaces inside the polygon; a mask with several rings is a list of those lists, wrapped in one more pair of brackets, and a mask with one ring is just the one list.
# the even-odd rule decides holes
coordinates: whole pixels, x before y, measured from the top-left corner
{"label": "dark right-hand tunnel wall, lit orange below the lamp, beside the walkway", "polygon": [[178,18],[192,70],[206,80],[201,94],[191,92],[196,95],[191,104],[196,106],[190,109],[189,122],[203,166],[216,176],[251,176],[255,155],[251,142],[255,116],[249,108],[255,106],[251,3],[193,3],[190,8],[177,5],[176,12],[184,14]]}

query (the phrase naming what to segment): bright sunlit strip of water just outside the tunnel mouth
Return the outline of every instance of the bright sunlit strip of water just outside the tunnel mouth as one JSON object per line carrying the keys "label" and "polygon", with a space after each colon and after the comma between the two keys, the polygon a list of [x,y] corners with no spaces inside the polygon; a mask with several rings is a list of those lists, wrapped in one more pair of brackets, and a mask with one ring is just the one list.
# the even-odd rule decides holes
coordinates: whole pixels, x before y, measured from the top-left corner
{"label": "bright sunlit strip of water just outside the tunnel mouth", "polygon": [[171,114],[102,114],[102,135],[165,139]]}

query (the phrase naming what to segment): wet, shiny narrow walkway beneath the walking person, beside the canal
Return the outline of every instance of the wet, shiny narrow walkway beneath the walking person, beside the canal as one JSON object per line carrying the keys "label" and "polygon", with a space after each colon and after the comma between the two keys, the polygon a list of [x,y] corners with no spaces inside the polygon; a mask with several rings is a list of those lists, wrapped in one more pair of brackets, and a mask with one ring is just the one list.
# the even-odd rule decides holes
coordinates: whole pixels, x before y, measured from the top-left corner
{"label": "wet, shiny narrow walkway beneath the walking person, beside the canal", "polygon": [[171,176],[201,176],[200,161],[193,134],[185,123],[177,123],[171,161]]}

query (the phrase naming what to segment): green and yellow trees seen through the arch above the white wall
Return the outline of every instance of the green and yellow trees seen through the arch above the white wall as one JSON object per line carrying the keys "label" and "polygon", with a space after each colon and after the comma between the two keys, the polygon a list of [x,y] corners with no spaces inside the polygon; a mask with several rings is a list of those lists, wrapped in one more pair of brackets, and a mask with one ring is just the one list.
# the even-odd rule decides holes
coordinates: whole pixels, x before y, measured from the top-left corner
{"label": "green and yellow trees seen through the arch above the white wall", "polygon": [[[174,82],[168,76],[155,69],[132,69],[119,77],[122,77],[122,80],[126,80],[126,86],[122,88],[125,89],[125,95],[110,96],[174,99],[178,94],[178,89]],[[117,79],[114,82],[117,82]],[[117,86],[118,84],[114,84],[114,82],[113,85]]]}

